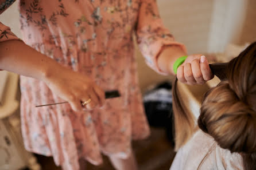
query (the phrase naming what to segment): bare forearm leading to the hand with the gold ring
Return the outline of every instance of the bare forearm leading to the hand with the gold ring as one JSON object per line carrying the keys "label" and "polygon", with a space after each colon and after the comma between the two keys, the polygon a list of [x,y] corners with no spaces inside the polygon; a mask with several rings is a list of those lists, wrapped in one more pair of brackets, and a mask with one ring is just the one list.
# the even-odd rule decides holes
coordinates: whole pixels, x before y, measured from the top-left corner
{"label": "bare forearm leading to the hand with the gold ring", "polygon": [[0,69],[43,80],[51,68],[61,67],[55,60],[30,48],[22,41],[0,43]]}

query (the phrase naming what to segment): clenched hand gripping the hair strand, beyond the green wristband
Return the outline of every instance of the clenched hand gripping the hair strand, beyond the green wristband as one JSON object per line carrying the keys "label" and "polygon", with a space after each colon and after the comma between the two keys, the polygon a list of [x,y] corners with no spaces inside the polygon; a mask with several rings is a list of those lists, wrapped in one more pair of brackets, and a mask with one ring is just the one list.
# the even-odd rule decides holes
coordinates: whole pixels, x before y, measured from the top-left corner
{"label": "clenched hand gripping the hair strand, beyond the green wristband", "polygon": [[214,78],[205,56],[190,55],[177,69],[177,78],[180,82],[189,85],[204,84]]}

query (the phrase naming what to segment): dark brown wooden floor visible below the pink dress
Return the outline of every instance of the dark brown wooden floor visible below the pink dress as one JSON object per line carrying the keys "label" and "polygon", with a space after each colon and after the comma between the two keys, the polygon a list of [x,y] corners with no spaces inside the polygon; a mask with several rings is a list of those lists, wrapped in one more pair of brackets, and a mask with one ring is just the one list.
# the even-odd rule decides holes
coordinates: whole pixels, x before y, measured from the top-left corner
{"label": "dark brown wooden floor visible below the pink dress", "polygon": [[[133,149],[138,161],[139,170],[169,170],[175,153],[166,138],[165,130],[162,128],[152,128],[149,139],[134,141]],[[61,170],[56,167],[52,157],[37,155],[38,162],[42,170]],[[115,170],[106,156],[103,156],[104,163],[99,166],[87,164],[87,170]],[[133,169],[131,169],[133,170]]]}

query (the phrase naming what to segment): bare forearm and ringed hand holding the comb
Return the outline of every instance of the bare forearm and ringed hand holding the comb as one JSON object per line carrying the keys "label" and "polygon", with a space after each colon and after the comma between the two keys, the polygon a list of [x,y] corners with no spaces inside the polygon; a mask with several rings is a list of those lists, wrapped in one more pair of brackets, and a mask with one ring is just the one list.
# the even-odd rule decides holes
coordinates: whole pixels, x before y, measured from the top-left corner
{"label": "bare forearm and ringed hand holding the comb", "polygon": [[[0,42],[0,54],[1,69],[46,82],[53,93],[67,100],[74,110],[93,109],[104,103],[103,90],[89,77],[61,66],[22,41]],[[81,102],[90,98],[82,107]]]}

